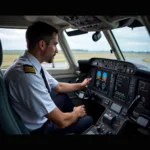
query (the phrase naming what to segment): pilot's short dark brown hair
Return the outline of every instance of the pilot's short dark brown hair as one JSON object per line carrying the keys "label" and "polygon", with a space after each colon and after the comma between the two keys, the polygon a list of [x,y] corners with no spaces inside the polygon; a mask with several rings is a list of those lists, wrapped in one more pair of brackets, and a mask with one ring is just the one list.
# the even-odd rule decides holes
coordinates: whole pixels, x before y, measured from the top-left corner
{"label": "pilot's short dark brown hair", "polygon": [[28,49],[33,48],[40,40],[44,40],[49,44],[50,38],[53,33],[58,33],[58,30],[42,21],[36,21],[31,24],[26,31],[26,41]]}

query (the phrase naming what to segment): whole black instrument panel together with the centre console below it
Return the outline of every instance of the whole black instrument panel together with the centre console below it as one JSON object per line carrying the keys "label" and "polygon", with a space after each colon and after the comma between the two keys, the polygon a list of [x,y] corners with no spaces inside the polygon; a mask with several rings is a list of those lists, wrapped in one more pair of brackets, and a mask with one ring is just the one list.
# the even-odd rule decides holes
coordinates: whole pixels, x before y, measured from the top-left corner
{"label": "whole black instrument panel together with the centre console below it", "polygon": [[121,134],[128,119],[142,127],[149,126],[148,68],[126,61],[92,58],[79,61],[79,69],[86,77],[92,78],[88,85],[89,100],[104,106],[104,112],[100,114],[96,124],[84,134]]}

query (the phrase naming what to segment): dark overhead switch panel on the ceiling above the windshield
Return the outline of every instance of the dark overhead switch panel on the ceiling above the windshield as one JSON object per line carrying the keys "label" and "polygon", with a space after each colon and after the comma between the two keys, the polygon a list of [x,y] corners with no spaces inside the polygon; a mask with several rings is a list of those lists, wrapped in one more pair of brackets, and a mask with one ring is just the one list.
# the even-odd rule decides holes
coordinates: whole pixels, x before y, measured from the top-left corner
{"label": "dark overhead switch panel on the ceiling above the windshield", "polygon": [[83,31],[101,31],[121,27],[143,26],[140,16],[58,16]]}

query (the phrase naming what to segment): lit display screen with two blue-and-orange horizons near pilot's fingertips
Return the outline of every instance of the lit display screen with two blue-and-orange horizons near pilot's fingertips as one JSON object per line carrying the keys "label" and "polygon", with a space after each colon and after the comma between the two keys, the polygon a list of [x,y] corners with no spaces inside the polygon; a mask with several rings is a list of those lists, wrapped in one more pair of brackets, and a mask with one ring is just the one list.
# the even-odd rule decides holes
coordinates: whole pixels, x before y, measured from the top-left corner
{"label": "lit display screen with two blue-and-orange horizons near pilot's fingertips", "polygon": [[107,71],[97,70],[95,86],[101,92],[107,94],[109,89],[110,74]]}

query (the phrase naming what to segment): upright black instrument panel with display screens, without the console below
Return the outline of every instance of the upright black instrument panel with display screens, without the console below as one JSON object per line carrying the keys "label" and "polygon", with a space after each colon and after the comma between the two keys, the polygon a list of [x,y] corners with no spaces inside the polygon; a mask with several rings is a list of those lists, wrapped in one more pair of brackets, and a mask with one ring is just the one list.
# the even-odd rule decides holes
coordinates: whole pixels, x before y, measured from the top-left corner
{"label": "upright black instrument panel with display screens, without the console below", "polygon": [[[79,62],[79,66],[80,66]],[[85,71],[84,63],[84,71]],[[82,70],[81,70],[82,71]],[[130,62],[92,58],[87,65],[89,89],[121,107],[129,107],[137,95],[141,107],[150,110],[150,70]]]}

